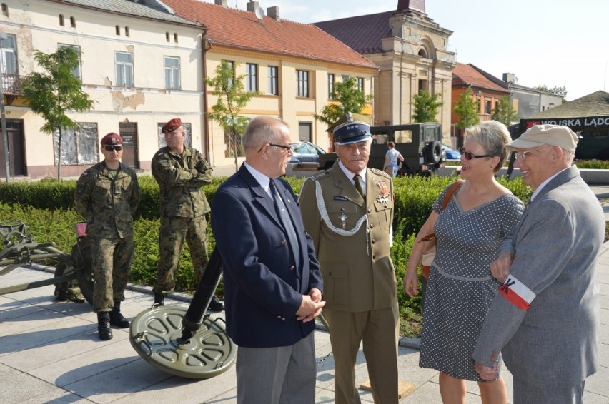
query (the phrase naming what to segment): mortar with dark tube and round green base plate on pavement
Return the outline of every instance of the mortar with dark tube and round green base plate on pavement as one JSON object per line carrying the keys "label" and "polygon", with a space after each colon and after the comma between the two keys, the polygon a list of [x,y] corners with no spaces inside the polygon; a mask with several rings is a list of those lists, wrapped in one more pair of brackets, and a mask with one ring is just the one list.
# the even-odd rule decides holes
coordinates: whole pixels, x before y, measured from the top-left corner
{"label": "mortar with dark tube and round green base plate on pavement", "polygon": [[214,249],[188,310],[153,305],[132,321],[129,341],[155,368],[183,378],[207,379],[226,372],[237,357],[222,318],[207,315],[222,263]]}

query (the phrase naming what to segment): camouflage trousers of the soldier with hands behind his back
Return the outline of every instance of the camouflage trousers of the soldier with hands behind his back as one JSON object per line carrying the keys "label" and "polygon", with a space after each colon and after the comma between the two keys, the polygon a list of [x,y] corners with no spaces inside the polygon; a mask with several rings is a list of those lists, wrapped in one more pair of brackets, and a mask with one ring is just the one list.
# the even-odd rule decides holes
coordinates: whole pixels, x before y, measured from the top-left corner
{"label": "camouflage trousers of the soldier with hands behind his back", "polygon": [[115,301],[124,299],[124,291],[131,274],[133,235],[125,238],[96,238],[91,235],[91,265],[93,311],[110,311]]}

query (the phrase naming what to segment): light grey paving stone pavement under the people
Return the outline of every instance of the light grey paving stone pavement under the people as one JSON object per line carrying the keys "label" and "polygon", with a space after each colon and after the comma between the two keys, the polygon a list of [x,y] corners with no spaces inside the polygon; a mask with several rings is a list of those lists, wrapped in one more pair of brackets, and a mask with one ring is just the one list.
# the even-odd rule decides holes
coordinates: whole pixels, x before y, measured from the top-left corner
{"label": "light grey paving stone pavement under the people", "polygon": [[[600,281],[600,368],[585,385],[585,403],[609,403],[609,244],[598,260]],[[2,276],[2,286],[49,278],[51,273],[17,268]],[[97,338],[96,315],[89,303],[58,303],[54,287],[46,286],[0,296],[0,403],[236,403],[234,366],[207,380],[192,380],[157,370],[129,343],[128,330],[114,329],[114,338]],[[184,298],[184,296],[177,296]],[[187,307],[182,300],[167,304]],[[122,311],[128,318],[152,305],[149,288],[126,293]],[[219,313],[218,315],[222,315]],[[317,390],[315,403],[334,401],[334,360],[330,338],[315,331]],[[408,345],[408,346],[406,346]],[[402,404],[441,403],[435,370],[418,367],[417,340],[402,339],[398,358],[400,380],[416,389]],[[330,354],[330,355],[329,355]],[[503,373],[512,399],[512,378]],[[362,351],[357,355],[356,383],[367,380]],[[477,383],[467,383],[467,400],[480,403]],[[362,403],[372,395],[360,390]]]}

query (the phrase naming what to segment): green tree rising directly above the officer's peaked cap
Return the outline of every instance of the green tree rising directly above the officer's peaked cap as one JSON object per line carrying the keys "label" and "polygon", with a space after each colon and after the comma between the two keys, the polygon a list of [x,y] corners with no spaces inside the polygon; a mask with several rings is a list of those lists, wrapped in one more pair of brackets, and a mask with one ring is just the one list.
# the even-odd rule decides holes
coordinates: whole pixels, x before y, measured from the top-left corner
{"label": "green tree rising directly above the officer's peaked cap", "polygon": [[338,121],[347,112],[361,113],[366,104],[372,100],[372,95],[365,96],[364,92],[357,88],[357,79],[349,76],[334,85],[330,99],[337,103],[328,103],[319,115],[314,115],[317,121],[328,125]]}

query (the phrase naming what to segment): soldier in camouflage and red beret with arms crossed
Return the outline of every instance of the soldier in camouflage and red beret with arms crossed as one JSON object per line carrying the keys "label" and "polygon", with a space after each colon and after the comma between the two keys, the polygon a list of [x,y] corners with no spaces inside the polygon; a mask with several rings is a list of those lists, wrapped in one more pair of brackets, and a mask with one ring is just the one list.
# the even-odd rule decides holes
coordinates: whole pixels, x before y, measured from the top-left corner
{"label": "soldier in camouflage and red beret with arms crossed", "polygon": [[[186,132],[182,121],[174,118],[162,127],[167,146],[152,158],[152,176],[159,183],[161,228],[159,231],[159,266],[154,283],[154,303],[164,305],[164,297],[174,291],[179,256],[184,238],[190,250],[194,277],[199,284],[207,265],[207,220],[209,203],[202,186],[212,183],[212,167],[202,154],[184,146]],[[224,304],[216,296],[209,303],[212,310]]]}

